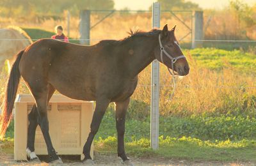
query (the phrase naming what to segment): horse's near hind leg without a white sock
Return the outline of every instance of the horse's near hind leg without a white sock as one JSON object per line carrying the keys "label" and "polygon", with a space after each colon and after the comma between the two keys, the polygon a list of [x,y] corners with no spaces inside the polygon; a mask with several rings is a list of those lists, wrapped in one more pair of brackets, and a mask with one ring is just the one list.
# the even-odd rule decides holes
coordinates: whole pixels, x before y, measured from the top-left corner
{"label": "horse's near hind leg without a white sock", "polygon": [[36,101],[36,109],[38,111],[38,124],[44,135],[48,154],[52,161],[59,160],[59,157],[56,155],[56,151],[52,146],[51,137],[49,135],[49,121],[47,118],[47,100],[49,88],[51,86],[49,84],[36,84],[36,87],[31,87],[30,85],[29,87]]}

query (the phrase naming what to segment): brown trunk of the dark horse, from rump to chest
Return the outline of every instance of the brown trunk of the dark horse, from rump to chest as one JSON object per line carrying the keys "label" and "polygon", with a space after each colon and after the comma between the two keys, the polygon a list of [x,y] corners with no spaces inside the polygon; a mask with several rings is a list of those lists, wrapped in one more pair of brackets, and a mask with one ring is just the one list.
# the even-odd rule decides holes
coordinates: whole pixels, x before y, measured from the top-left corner
{"label": "brown trunk of the dark horse, from rump to chest", "polygon": [[111,54],[112,48],[44,39],[25,50],[19,69],[28,85],[36,89],[51,84],[61,94],[77,100],[96,100],[104,95],[122,100],[133,93],[136,80],[132,80],[131,87],[125,84],[131,80],[124,74],[124,57]]}

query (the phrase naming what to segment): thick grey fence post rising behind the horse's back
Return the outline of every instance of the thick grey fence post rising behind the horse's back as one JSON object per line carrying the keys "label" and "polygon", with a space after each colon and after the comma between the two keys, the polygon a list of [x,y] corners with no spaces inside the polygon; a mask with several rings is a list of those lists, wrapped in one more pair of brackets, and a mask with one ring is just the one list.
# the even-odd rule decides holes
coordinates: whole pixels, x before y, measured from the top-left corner
{"label": "thick grey fence post rising behind the horse's back", "polygon": [[80,44],[90,45],[90,10],[82,10],[80,14]]}

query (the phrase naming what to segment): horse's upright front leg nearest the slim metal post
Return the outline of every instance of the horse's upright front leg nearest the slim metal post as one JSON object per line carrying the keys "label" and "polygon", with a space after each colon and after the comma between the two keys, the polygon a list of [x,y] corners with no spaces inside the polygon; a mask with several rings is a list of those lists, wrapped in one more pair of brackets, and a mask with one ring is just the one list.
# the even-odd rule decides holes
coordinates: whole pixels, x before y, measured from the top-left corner
{"label": "horse's upright front leg nearest the slim metal post", "polygon": [[124,133],[125,133],[125,115],[128,109],[130,98],[124,102],[116,102],[115,111],[116,111],[116,130],[117,130],[117,139],[118,147],[117,154],[122,158],[122,162],[126,165],[132,165],[131,161],[125,154],[124,149]]}

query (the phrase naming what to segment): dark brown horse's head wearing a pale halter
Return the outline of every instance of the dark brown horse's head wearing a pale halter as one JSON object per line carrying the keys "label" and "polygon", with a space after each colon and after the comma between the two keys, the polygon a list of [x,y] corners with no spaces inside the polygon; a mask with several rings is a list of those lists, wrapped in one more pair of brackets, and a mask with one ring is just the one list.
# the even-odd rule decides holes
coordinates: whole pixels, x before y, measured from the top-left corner
{"label": "dark brown horse's head wearing a pale halter", "polygon": [[167,24],[158,36],[158,42],[155,49],[155,57],[158,61],[172,68],[178,75],[188,75],[189,65],[186,57],[183,55],[179,43],[175,38],[175,27],[168,31]]}

